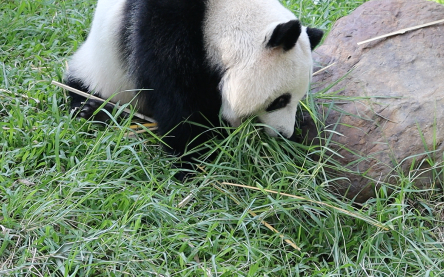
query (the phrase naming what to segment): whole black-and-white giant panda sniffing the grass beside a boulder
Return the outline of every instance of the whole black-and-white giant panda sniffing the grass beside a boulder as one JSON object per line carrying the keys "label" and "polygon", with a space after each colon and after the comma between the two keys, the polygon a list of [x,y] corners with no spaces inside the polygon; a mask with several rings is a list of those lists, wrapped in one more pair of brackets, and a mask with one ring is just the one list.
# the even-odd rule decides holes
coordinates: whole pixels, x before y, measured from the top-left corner
{"label": "whole black-and-white giant panda sniffing the grass beside a boulder", "polygon": [[[268,134],[290,137],[322,35],[278,0],[99,0],[64,81],[132,101],[175,155],[208,139],[219,112],[233,127],[255,115]],[[102,104],[71,96],[80,117]],[[103,111],[95,116],[106,121]]]}

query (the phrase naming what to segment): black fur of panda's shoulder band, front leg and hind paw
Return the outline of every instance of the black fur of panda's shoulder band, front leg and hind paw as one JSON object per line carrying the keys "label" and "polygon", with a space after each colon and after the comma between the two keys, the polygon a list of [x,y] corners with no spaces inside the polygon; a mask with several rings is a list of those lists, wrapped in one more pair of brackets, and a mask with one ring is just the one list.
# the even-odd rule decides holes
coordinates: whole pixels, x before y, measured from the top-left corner
{"label": "black fur of panda's shoulder band, front leg and hind paw", "polygon": [[[204,0],[128,0],[125,4],[121,58],[137,88],[150,89],[139,94],[145,103],[139,112],[153,114],[159,133],[167,134],[162,140],[167,151],[175,155],[208,139],[200,135],[206,128],[190,122],[219,125],[221,73],[206,63],[201,28],[205,9]],[[73,83],[68,76],[67,84]],[[71,107],[81,102],[75,96]]]}

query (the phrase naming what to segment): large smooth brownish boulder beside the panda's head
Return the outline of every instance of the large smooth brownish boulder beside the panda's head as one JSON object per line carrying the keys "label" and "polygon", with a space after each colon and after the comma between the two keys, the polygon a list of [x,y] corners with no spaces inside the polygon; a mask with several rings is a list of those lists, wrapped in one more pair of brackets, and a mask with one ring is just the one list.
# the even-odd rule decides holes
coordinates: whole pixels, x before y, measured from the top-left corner
{"label": "large smooth brownish boulder beside the panda's head", "polygon": [[[432,181],[431,164],[444,149],[444,24],[357,43],[443,18],[444,5],[434,2],[374,0],[339,19],[315,50],[319,64],[336,63],[313,77],[313,91],[329,93],[317,99],[318,112],[326,130],[342,134],[324,132],[333,134],[328,146],[342,156],[336,161],[350,170],[332,172],[347,178],[337,188],[348,198],[363,202],[382,182],[399,184],[399,174],[418,186]],[[317,139],[307,115],[302,129],[309,142]]]}

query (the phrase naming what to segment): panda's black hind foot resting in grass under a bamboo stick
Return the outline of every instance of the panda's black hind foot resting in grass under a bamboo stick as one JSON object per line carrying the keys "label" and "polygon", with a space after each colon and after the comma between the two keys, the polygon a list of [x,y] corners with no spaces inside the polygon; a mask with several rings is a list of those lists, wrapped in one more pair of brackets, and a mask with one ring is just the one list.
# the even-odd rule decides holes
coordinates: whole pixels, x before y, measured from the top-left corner
{"label": "panda's black hind foot resting in grass under a bamboo stick", "polygon": [[[78,89],[80,91],[88,92],[87,87],[78,80],[69,79],[65,81],[65,84]],[[108,122],[110,120],[108,114],[103,111],[105,109],[109,113],[113,112],[114,106],[110,104],[105,104],[100,111],[94,114],[102,105],[102,101],[87,99],[79,94],[69,92],[69,96],[71,97],[71,107],[70,111],[74,111],[76,117],[82,117],[87,120],[94,119],[99,122]]]}

